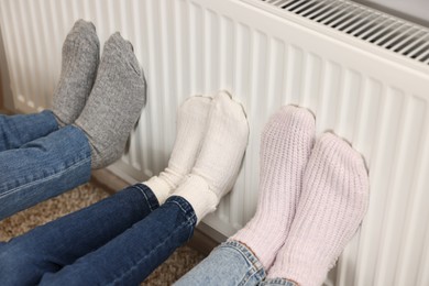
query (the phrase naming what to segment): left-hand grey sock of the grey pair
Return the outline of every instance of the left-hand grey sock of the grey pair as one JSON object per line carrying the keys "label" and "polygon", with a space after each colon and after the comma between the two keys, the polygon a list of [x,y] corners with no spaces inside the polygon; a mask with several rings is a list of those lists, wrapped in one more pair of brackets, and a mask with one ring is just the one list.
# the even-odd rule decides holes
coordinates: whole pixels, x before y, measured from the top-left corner
{"label": "left-hand grey sock of the grey pair", "polygon": [[92,23],[79,20],[63,44],[62,72],[54,90],[53,112],[58,124],[72,124],[91,92],[100,61],[100,43]]}

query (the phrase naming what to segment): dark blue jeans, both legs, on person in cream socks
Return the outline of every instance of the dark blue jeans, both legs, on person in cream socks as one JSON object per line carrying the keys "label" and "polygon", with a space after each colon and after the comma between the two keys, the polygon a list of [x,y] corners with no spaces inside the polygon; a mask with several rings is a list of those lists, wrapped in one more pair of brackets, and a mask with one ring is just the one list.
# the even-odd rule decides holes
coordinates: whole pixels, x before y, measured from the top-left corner
{"label": "dark blue jeans, both legs, on person in cream socks", "polygon": [[196,221],[184,198],[158,207],[136,184],[0,245],[1,285],[136,285],[190,239]]}

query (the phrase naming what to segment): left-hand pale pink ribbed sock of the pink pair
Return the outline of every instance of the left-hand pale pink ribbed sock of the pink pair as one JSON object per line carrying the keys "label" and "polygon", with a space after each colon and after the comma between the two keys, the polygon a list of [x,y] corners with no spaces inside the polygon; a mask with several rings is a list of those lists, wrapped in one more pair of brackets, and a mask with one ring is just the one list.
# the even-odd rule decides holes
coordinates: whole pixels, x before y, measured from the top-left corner
{"label": "left-hand pale pink ribbed sock of the pink pair", "polygon": [[256,213],[230,240],[250,248],[265,270],[272,265],[289,231],[314,143],[314,116],[294,106],[282,108],[263,131]]}

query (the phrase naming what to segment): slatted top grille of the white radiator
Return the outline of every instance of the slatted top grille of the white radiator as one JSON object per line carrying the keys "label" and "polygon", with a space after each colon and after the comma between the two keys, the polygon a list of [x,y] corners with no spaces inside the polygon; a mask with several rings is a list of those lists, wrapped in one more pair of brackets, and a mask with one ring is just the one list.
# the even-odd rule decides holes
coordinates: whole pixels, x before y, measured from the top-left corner
{"label": "slatted top grille of the white radiator", "polygon": [[346,0],[261,0],[429,65],[429,29]]}

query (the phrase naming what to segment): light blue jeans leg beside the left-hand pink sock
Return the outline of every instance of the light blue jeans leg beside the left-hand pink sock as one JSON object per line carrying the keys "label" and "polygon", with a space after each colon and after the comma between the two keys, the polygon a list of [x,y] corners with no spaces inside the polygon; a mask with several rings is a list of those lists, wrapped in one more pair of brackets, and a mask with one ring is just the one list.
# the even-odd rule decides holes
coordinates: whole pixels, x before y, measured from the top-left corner
{"label": "light blue jeans leg beside the left-hand pink sock", "polygon": [[183,276],[176,286],[187,285],[257,285],[265,270],[257,257],[243,244],[228,241]]}

